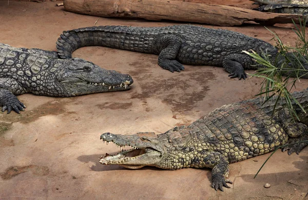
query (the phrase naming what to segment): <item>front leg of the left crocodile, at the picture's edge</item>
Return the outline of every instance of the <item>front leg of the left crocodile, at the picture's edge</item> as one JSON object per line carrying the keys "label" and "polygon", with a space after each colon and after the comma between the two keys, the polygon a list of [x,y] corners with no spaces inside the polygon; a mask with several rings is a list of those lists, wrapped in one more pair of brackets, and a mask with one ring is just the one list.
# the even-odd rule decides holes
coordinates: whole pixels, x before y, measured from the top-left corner
{"label": "front leg of the left crocodile, at the picture's edge", "polygon": [[7,110],[9,114],[14,110],[19,114],[20,111],[24,111],[24,108],[26,108],[13,93],[23,94],[25,90],[16,81],[12,81],[11,78],[0,78],[0,106],[2,106],[2,112]]}

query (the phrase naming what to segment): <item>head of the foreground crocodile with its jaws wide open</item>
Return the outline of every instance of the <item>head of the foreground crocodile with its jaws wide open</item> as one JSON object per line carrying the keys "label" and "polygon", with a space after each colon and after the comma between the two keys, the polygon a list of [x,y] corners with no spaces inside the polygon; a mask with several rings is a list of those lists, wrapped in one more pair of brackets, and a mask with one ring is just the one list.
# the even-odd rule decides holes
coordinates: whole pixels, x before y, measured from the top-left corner
{"label": "head of the foreground crocodile with its jaws wide open", "polygon": [[[112,142],[120,146],[120,152],[100,158],[104,165],[120,165],[129,169],[139,169],[144,166],[157,166],[164,157],[164,145],[158,135],[152,132],[134,135],[103,133],[101,139],[105,143]],[[130,149],[122,150],[128,146]]]}

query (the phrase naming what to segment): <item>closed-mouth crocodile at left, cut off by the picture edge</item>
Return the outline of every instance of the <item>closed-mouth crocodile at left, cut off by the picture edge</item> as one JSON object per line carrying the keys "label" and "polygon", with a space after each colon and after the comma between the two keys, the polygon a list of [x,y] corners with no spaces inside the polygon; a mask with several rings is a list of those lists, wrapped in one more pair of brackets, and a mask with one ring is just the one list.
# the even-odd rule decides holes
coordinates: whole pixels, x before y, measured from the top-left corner
{"label": "closed-mouth crocodile at left, cut off by the picture edge", "polygon": [[69,97],[128,90],[128,74],[103,69],[81,58],[61,59],[56,51],[14,48],[0,43],[0,106],[17,113],[26,106],[15,95]]}

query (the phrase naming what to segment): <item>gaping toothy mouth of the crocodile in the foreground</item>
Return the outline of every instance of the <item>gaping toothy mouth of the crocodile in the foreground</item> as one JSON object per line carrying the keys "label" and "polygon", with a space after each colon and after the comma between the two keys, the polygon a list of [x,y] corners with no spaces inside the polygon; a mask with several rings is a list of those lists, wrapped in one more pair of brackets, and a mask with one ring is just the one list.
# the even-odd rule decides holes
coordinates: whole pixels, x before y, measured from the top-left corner
{"label": "gaping toothy mouth of the crocodile in the foreground", "polygon": [[144,167],[143,160],[150,156],[160,156],[161,153],[150,147],[137,147],[131,145],[119,145],[116,142],[107,142],[104,138],[101,138],[103,142],[108,145],[112,142],[113,144],[120,147],[120,151],[114,155],[106,153],[99,159],[103,165],[120,165],[129,169],[139,169]]}

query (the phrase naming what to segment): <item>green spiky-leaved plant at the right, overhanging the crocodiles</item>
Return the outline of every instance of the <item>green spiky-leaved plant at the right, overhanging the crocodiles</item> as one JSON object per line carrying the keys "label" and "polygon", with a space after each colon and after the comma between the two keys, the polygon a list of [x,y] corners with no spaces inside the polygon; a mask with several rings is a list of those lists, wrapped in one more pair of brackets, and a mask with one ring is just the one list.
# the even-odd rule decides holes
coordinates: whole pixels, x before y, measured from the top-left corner
{"label": "green spiky-leaved plant at the right, overhanging the crocodiles", "polygon": [[[277,103],[279,101],[284,101],[285,104],[283,105],[286,105],[287,109],[290,113],[292,113],[294,119],[298,120],[299,117],[295,111],[294,103],[296,103],[296,105],[298,105],[304,113],[306,113],[306,111],[292,96],[290,90],[295,87],[295,83],[299,81],[301,77],[308,75],[307,69],[303,66],[303,63],[308,63],[308,42],[306,42],[305,39],[305,23],[305,19],[302,23],[300,23],[300,27],[297,27],[294,23],[296,28],[293,29],[293,31],[298,36],[296,47],[284,45],[276,32],[265,27],[268,31],[274,34],[273,39],[276,42],[276,47],[278,48],[278,54],[275,58],[268,55],[267,52],[262,52],[261,55],[259,55],[253,50],[251,50],[252,52],[243,51],[254,58],[254,60],[258,63],[256,66],[260,66],[255,74],[249,74],[251,76],[263,78],[260,92],[256,96],[264,94],[264,103],[266,103],[269,99],[275,95],[278,95],[273,109],[273,114],[275,113]],[[278,60],[283,60],[283,62],[277,62]],[[292,78],[291,75],[294,75],[295,77]]]}

